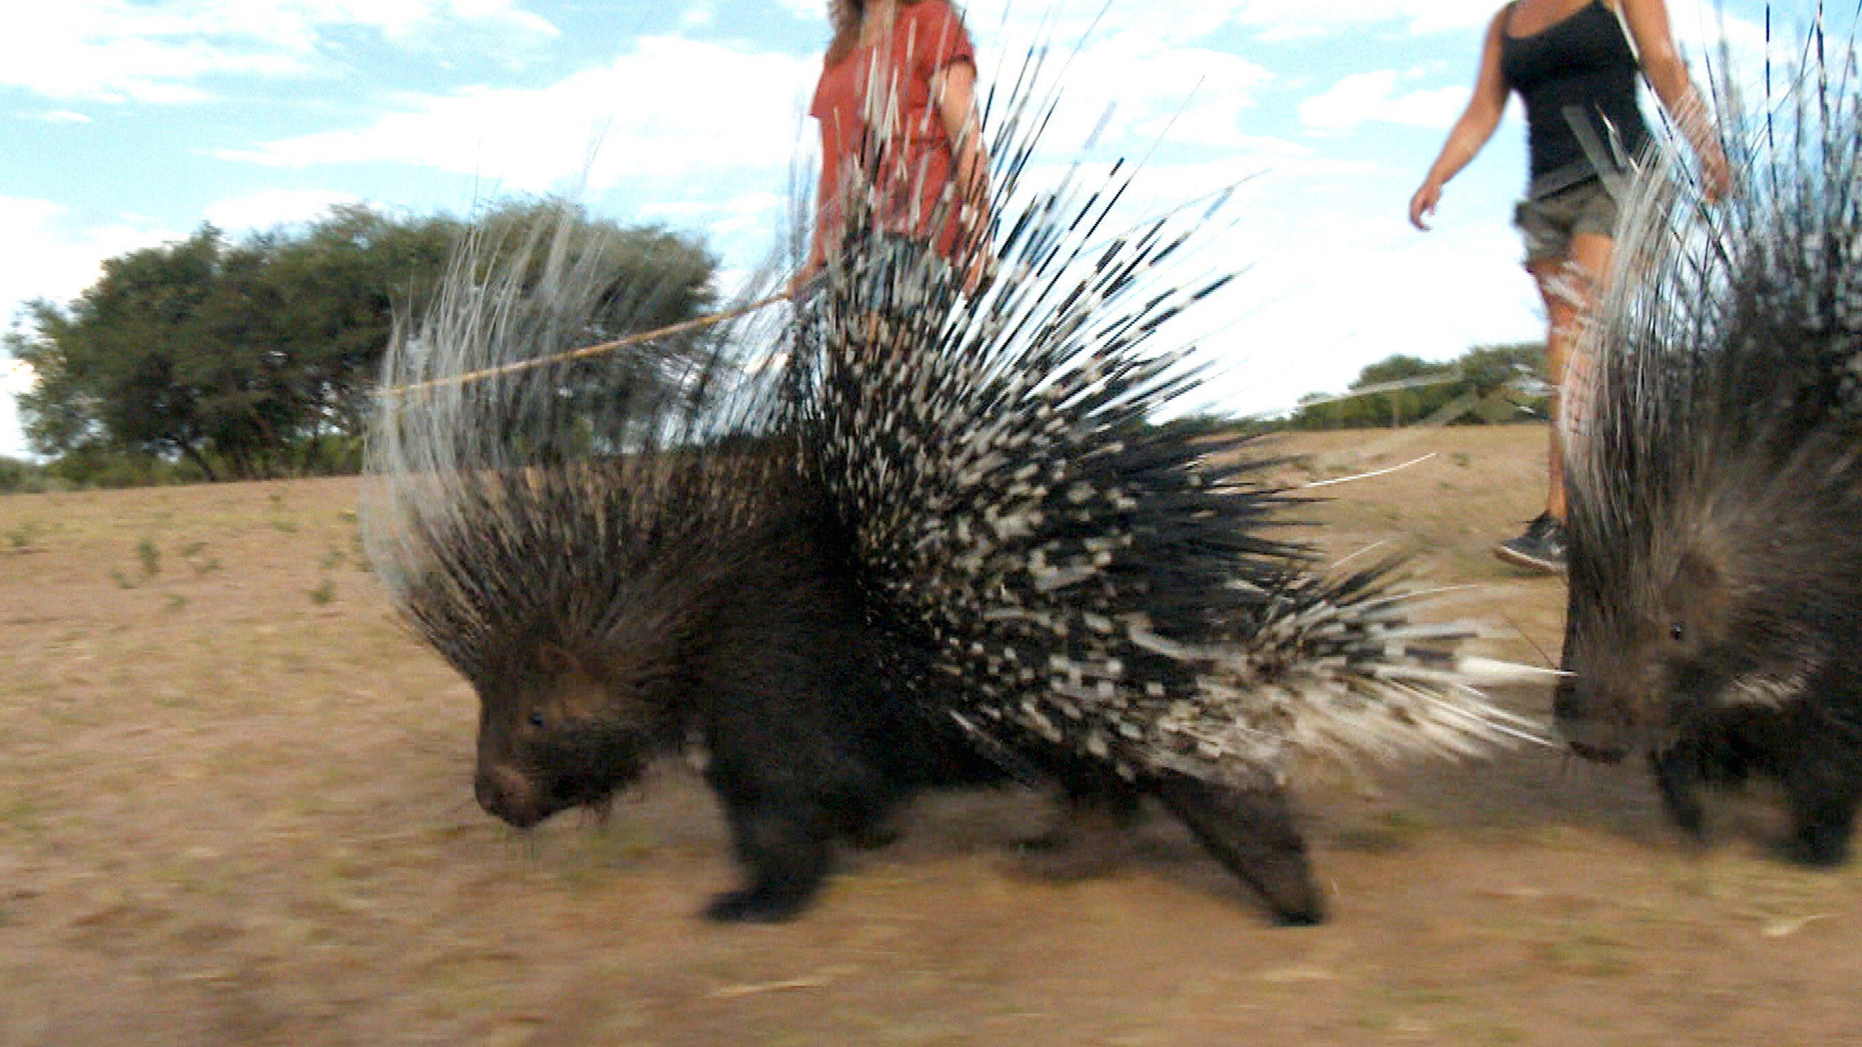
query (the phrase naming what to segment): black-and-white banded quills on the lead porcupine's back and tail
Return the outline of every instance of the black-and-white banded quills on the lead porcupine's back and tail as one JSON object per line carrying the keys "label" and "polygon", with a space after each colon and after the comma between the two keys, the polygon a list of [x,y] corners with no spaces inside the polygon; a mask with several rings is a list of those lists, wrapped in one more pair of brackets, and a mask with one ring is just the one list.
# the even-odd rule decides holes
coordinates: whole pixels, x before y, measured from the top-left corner
{"label": "black-and-white banded quills on the lead porcupine's back and tail", "polygon": [[897,194],[870,143],[793,332],[810,473],[855,535],[873,620],[927,652],[899,678],[989,747],[1127,775],[1249,782],[1289,755],[1536,736],[1477,689],[1508,667],[1458,656],[1465,626],[1413,620],[1395,564],[1328,578],[1283,537],[1300,497],[1249,442],[1151,425],[1208,363],[1166,324],[1231,279],[1181,265],[1227,194],[1119,231],[1136,170],[1037,153],[1059,99],[1048,61],[1033,48],[974,130],[1000,257],[987,291],[961,292],[968,257],[888,231],[879,201]]}

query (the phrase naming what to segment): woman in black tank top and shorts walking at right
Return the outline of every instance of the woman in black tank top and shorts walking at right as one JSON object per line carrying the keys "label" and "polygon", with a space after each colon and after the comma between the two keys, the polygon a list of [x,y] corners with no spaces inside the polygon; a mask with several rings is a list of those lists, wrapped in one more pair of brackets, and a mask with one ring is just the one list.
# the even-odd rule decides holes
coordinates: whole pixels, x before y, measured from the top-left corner
{"label": "woman in black tank top and shorts walking at right", "polygon": [[[1639,60],[1640,56],[1640,60]],[[1566,360],[1577,319],[1611,263],[1612,184],[1622,160],[1648,142],[1637,108],[1637,73],[1694,147],[1707,196],[1726,192],[1730,175],[1668,34],[1663,0],[1514,0],[1488,24],[1475,97],[1449,132],[1423,188],[1410,199],[1410,222],[1428,229],[1447,184],[1480,147],[1514,91],[1525,101],[1531,183],[1514,224],[1527,238],[1525,268],[1545,302],[1545,365],[1553,393],[1551,483],[1545,512],[1525,535],[1495,546],[1501,559],[1538,570],[1564,570],[1564,455],[1560,432],[1583,423],[1583,376]],[[1598,170],[1599,164],[1605,170]],[[1611,170],[1618,168],[1618,170]]]}

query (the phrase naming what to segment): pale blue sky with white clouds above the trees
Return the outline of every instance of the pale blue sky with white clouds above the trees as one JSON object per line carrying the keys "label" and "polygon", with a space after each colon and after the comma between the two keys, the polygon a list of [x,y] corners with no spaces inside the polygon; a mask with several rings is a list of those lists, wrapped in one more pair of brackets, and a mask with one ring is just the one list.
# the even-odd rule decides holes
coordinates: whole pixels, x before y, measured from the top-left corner
{"label": "pale blue sky with white clouds above the trees", "polygon": [[[0,313],[69,300],[112,255],[331,203],[466,212],[579,184],[596,211],[708,238],[728,270],[786,216],[825,0],[58,0],[0,11]],[[1045,19],[1100,0],[976,0],[985,80]],[[1100,153],[1149,155],[1134,209],[1246,179],[1197,322],[1231,412],[1343,388],[1391,352],[1540,333],[1508,225],[1514,112],[1434,233],[1404,209],[1467,99],[1497,0],[1113,0],[1074,58],[1056,145],[1115,104]],[[1670,0],[1691,54],[1713,9]],[[1732,39],[1761,7],[1730,2]],[[1808,7],[1784,9],[1788,34]],[[596,160],[590,149],[600,143]],[[20,453],[0,360],[0,455]]]}

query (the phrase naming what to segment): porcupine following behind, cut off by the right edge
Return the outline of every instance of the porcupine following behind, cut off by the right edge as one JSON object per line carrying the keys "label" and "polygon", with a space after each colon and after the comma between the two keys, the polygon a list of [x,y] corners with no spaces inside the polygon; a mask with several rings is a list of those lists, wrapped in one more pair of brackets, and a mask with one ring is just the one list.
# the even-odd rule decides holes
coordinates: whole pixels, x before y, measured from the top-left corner
{"label": "porcupine following behind, cut off by the right edge", "polygon": [[1555,715],[1585,756],[1646,751],[1696,838],[1704,786],[1774,779],[1784,851],[1838,864],[1862,799],[1862,114],[1821,11],[1812,43],[1761,112],[1719,78],[1726,201],[1674,149],[1629,192],[1570,451]]}

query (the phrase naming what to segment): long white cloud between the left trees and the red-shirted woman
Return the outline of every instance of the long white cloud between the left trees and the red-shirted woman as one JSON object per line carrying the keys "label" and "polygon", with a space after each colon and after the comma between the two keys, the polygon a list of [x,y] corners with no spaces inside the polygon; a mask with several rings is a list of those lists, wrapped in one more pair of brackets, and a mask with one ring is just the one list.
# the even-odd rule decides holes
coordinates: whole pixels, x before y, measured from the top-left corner
{"label": "long white cloud between the left trees and the red-shirted woman", "polygon": [[588,145],[600,136],[605,147],[588,168],[596,190],[639,175],[765,170],[795,151],[814,76],[810,60],[644,37],[611,65],[547,88],[410,97],[369,127],[222,156],[281,168],[400,162],[542,192],[588,168]]}

